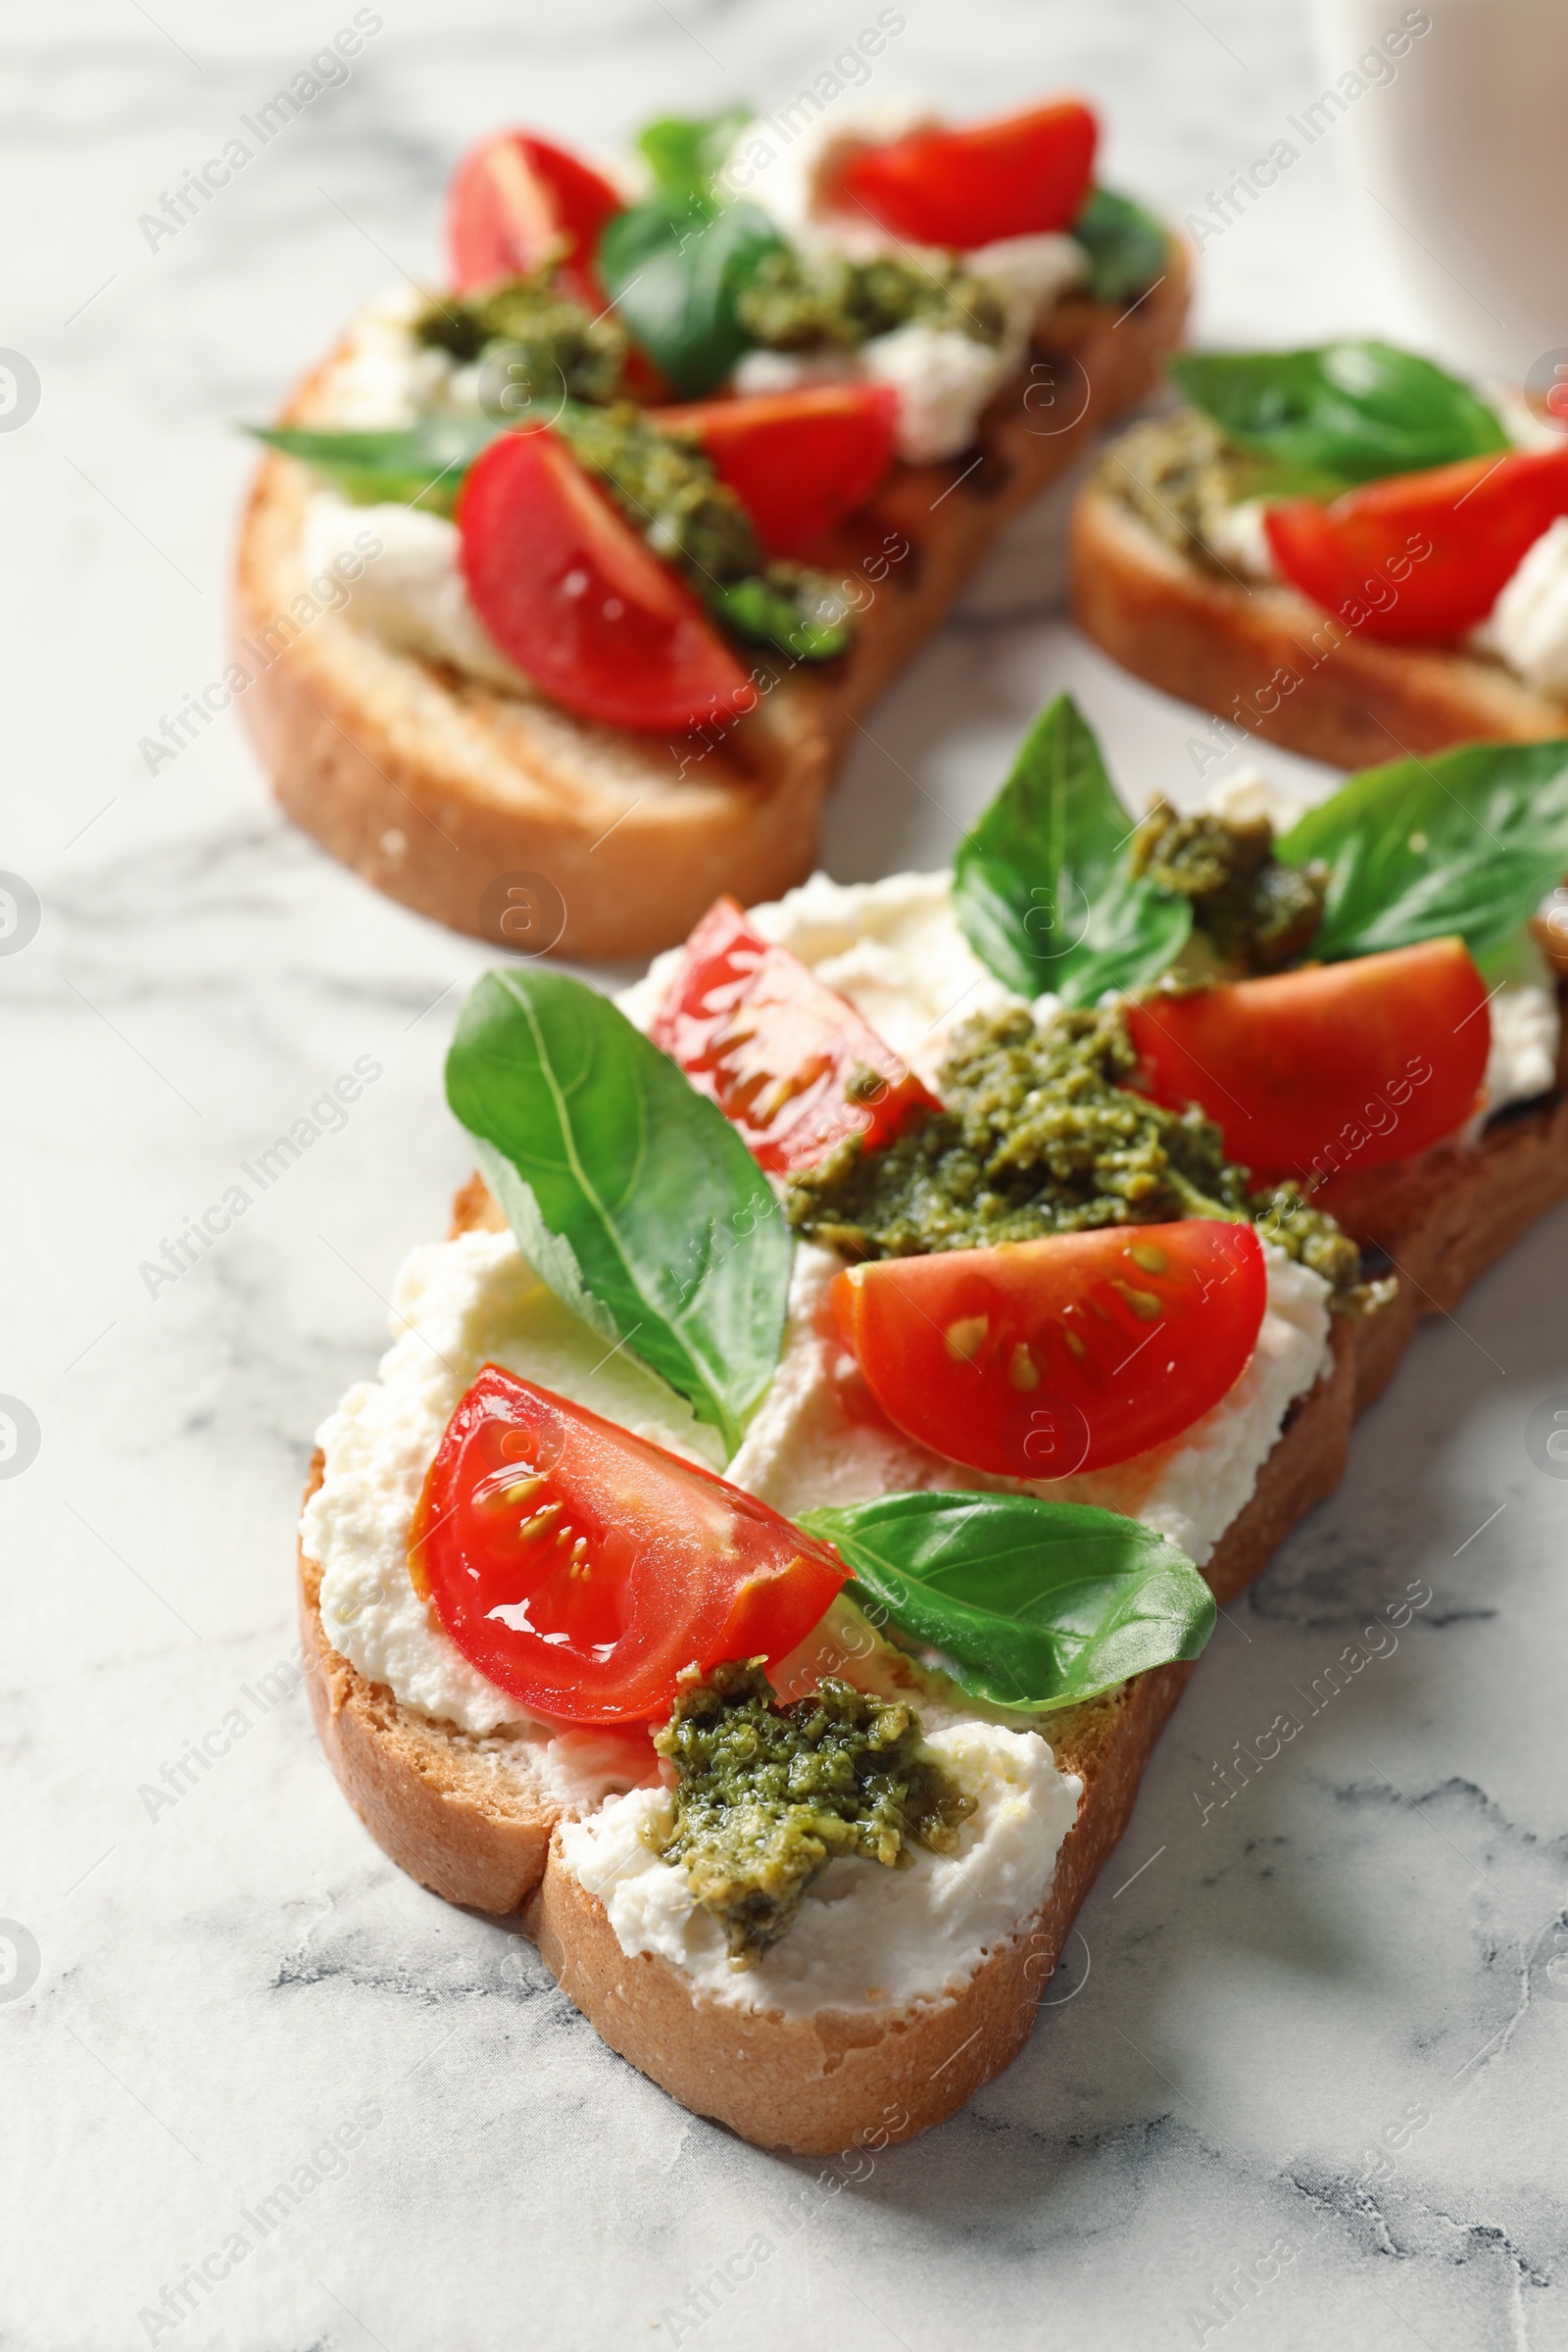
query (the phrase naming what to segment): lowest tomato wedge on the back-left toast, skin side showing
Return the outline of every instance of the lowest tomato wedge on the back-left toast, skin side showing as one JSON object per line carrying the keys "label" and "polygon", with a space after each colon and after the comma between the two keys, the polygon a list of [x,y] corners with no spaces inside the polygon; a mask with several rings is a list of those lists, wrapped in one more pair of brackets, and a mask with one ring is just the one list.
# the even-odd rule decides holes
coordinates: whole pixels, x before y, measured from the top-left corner
{"label": "lowest tomato wedge on the back-left toast, skin side showing", "polygon": [[458,499],[475,612],[567,710],[614,727],[731,720],[745,670],[555,433],[503,433]]}

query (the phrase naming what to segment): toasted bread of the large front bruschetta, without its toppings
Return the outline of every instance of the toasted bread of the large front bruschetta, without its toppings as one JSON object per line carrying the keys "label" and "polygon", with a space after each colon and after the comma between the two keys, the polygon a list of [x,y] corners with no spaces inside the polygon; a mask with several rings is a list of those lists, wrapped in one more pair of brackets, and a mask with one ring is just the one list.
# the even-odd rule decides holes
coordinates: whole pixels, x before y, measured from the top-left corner
{"label": "toasted bread of the large front bruschetta, without its toppings", "polygon": [[[1568,1077],[1568,1044],[1559,1082]],[[1505,1112],[1472,1152],[1371,1171],[1338,1204],[1401,1270],[1399,1301],[1335,1319],[1333,1364],[1298,1399],[1246,1510],[1204,1571],[1220,1602],[1262,1573],[1284,1536],[1338,1486],[1356,1411],[1382,1392],[1425,1315],[1465,1289],[1568,1192],[1568,1096]],[[454,1232],[501,1230],[480,1176],[454,1202]],[[308,1494],[320,1482],[320,1456]],[[813,2018],[693,1997],[656,1955],[628,1957],[597,1900],[564,1865],[550,1797],[527,1740],[475,1738],[402,1708],[339,1656],[322,1630],[320,1569],[303,1550],[299,1606],[310,1708],[343,1792],[390,1858],[451,1903],[522,1907],[559,1985],[611,2049],[698,2114],[802,2154],[910,2138],[952,2114],[1030,2037],[1034,2006],[1077,1910],[1117,1846],[1145,1764],[1192,1672],[1140,1675],[1051,1717],[1063,1771],[1084,1783],[1039,1917],[987,1955],[950,1999]]]}

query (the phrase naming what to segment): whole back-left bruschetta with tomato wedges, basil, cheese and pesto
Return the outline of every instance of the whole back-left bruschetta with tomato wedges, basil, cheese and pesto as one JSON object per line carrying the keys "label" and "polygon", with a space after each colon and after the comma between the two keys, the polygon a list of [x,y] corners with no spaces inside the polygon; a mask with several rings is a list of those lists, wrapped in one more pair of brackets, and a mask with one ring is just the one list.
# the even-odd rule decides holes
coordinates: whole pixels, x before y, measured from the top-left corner
{"label": "whole back-left bruschetta with tomato wedges, basil, cheese and pesto", "polygon": [[856,717],[1180,336],[1093,151],[1077,101],[475,148],[449,285],[261,435],[230,687],[284,809],[498,946],[799,882]]}

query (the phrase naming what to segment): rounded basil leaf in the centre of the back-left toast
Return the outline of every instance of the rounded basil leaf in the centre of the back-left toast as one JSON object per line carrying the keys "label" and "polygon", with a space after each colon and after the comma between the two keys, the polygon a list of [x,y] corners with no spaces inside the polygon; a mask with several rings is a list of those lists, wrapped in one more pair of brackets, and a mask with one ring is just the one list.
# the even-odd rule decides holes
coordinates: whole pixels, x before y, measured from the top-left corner
{"label": "rounded basil leaf in the centre of the back-left toast", "polygon": [[783,238],[757,205],[665,191],[604,226],[599,275],[625,329],[682,400],[710,393],[750,336],[736,296]]}

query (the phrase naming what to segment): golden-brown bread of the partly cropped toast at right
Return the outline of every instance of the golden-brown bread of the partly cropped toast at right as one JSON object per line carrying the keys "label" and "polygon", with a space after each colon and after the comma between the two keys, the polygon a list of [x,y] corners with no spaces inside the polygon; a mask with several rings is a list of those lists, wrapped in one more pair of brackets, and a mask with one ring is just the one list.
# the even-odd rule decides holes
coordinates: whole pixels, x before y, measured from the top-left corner
{"label": "golden-brown bread of the partly cropped toast at right", "polygon": [[1568,703],[1500,663],[1378,644],[1293,588],[1220,579],[1100,482],[1074,499],[1067,543],[1072,616],[1112,661],[1312,760],[1354,769],[1450,743],[1568,734]]}

